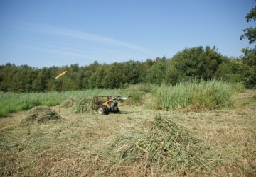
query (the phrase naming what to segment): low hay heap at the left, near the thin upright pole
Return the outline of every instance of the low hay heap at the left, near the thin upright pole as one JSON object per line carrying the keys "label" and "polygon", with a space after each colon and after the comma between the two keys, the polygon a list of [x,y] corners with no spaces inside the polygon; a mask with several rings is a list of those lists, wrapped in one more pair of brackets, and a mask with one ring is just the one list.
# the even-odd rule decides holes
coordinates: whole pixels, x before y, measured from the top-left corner
{"label": "low hay heap at the left, near the thin upright pole", "polygon": [[34,122],[41,124],[49,121],[60,120],[63,120],[63,118],[54,110],[51,110],[48,106],[37,106],[29,110],[28,116],[21,120],[21,125],[29,125]]}

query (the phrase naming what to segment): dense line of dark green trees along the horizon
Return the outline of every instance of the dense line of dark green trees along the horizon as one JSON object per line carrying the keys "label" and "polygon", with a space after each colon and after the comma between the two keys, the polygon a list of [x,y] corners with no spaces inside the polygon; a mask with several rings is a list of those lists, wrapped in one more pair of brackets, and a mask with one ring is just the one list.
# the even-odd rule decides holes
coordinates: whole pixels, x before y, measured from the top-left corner
{"label": "dense line of dark green trees along the horizon", "polygon": [[[57,91],[60,79],[64,91],[106,88],[125,88],[129,84],[178,84],[191,79],[217,79],[256,85],[256,62],[254,53],[240,58],[225,57],[216,47],[185,48],[171,58],[156,57],[144,62],[127,61],[87,66],[71,64],[63,67],[16,66],[7,63],[0,66],[0,91],[41,92]],[[61,72],[68,71],[60,79]]]}

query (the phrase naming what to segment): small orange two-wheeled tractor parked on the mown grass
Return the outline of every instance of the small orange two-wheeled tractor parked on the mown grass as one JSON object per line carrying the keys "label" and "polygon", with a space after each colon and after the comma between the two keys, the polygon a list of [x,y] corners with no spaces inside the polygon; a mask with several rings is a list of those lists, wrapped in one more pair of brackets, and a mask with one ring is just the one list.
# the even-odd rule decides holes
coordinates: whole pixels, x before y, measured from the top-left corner
{"label": "small orange two-wheeled tractor parked on the mown grass", "polygon": [[95,96],[93,97],[93,107],[99,114],[108,113],[119,113],[119,108],[117,106],[118,101],[125,101],[129,97],[117,96],[112,98],[112,96]]}

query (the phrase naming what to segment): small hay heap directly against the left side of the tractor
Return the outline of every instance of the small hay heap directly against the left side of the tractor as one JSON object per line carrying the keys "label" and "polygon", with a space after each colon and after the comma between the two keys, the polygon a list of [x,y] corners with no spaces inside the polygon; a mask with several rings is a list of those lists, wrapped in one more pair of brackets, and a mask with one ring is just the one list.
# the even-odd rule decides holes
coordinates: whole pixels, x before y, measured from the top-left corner
{"label": "small hay heap directly against the left side of the tractor", "polygon": [[92,98],[82,98],[74,103],[71,111],[73,113],[93,112],[92,101]]}

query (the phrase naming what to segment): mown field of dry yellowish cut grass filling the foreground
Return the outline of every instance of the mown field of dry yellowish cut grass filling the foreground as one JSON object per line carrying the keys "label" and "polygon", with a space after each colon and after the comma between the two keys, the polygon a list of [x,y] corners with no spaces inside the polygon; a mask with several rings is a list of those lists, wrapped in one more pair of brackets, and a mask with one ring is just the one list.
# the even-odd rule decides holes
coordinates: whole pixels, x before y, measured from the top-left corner
{"label": "mown field of dry yellowish cut grass filling the foreground", "polygon": [[234,92],[218,110],[148,103],[144,94],[108,115],[61,107],[60,121],[30,125],[21,125],[30,110],[8,114],[0,176],[256,176],[255,90]]}

